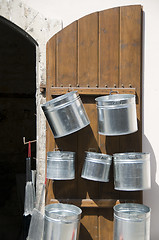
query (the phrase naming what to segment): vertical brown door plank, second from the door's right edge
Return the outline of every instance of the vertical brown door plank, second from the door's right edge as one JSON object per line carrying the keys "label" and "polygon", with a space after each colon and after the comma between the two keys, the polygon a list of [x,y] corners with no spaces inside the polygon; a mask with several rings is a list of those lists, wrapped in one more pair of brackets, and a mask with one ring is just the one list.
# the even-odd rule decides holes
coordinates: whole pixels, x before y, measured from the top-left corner
{"label": "vertical brown door plank, second from the door's right edge", "polygon": [[[125,93],[130,89],[119,89],[119,8],[109,9],[99,13],[99,87],[113,88],[117,93]],[[117,89],[116,89],[117,88]],[[119,150],[119,137],[99,135],[99,147],[102,153],[112,155]],[[119,192],[114,190],[113,165],[110,169],[108,183],[99,183],[99,198],[119,198]],[[114,204],[115,205],[115,204]],[[113,206],[112,206],[113,207]],[[99,210],[98,231],[99,240],[112,239],[113,210]]]}

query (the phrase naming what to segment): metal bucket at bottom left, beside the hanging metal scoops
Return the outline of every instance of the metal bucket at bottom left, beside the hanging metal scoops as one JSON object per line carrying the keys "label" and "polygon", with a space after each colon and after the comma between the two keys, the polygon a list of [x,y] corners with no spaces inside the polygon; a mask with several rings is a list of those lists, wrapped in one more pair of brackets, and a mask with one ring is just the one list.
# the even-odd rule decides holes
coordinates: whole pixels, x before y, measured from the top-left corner
{"label": "metal bucket at bottom left, beside the hanging metal scoops", "polygon": [[82,210],[71,204],[45,207],[43,240],[78,240]]}

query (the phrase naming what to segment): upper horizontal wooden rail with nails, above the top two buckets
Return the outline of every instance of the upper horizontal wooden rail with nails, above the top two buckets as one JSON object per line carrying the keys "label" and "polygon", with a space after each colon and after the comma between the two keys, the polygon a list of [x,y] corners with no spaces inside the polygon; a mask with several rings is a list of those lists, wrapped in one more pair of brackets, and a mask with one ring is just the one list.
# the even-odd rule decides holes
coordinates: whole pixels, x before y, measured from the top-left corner
{"label": "upper horizontal wooden rail with nails, above the top two buckets", "polygon": [[62,95],[67,92],[77,91],[80,95],[106,95],[106,94],[135,94],[135,88],[68,88],[54,87],[50,89],[52,96]]}

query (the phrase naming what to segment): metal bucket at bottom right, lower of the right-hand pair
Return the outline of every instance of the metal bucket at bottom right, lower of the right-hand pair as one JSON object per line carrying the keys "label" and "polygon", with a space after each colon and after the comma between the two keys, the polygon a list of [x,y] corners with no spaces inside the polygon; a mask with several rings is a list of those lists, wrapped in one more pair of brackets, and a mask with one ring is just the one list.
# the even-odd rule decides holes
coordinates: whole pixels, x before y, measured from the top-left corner
{"label": "metal bucket at bottom right, lower of the right-hand pair", "polygon": [[114,240],[150,240],[150,208],[135,203],[114,206]]}

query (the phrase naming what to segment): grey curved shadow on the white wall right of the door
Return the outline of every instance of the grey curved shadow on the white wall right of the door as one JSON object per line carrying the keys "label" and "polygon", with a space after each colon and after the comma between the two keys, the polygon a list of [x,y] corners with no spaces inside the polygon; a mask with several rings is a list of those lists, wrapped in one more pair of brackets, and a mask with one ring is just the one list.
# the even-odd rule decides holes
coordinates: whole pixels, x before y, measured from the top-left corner
{"label": "grey curved shadow on the white wall right of the door", "polygon": [[151,208],[151,239],[158,240],[158,216],[159,216],[159,185],[156,183],[157,161],[153,148],[145,135],[143,135],[143,150],[150,153],[151,158],[151,189],[143,192],[144,204]]}

